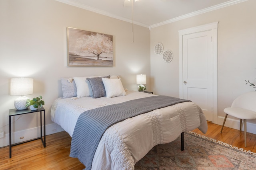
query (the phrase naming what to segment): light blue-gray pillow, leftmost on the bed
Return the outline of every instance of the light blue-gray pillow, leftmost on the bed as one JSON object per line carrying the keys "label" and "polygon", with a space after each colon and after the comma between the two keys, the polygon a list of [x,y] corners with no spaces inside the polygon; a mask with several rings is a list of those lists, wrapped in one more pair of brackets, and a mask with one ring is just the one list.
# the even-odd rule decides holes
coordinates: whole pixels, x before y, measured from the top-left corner
{"label": "light blue-gray pillow, leftmost on the bed", "polygon": [[69,78],[62,77],[61,78],[61,87],[62,87],[62,95],[63,99],[72,98],[76,96],[76,84],[74,81],[71,83],[68,82]]}

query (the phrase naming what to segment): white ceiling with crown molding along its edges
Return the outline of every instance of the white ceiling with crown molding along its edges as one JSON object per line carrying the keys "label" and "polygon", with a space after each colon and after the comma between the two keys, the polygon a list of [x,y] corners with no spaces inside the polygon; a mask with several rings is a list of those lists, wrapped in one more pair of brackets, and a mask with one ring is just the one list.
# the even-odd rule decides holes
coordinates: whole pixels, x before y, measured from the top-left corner
{"label": "white ceiling with crown molding along its edges", "polygon": [[246,0],[56,0],[99,14],[156,27]]}

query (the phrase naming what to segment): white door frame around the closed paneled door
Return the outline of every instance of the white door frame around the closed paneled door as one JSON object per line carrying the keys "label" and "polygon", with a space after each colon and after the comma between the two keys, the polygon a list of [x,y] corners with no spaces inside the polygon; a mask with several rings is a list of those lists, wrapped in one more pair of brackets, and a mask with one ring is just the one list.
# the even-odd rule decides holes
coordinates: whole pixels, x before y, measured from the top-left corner
{"label": "white door frame around the closed paneled door", "polygon": [[183,35],[212,30],[212,123],[218,122],[218,21],[179,30],[179,97],[183,98]]}

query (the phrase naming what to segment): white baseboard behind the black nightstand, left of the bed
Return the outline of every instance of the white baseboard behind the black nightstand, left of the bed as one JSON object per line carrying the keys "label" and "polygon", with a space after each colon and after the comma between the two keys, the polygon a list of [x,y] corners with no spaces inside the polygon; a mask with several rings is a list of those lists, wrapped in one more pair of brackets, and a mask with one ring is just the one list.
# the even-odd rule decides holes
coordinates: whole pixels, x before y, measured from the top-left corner
{"label": "white baseboard behind the black nightstand, left of the bed", "polygon": [[[46,133],[45,133],[46,135],[64,131],[56,123],[46,125],[45,129],[46,129]],[[42,135],[44,135],[44,130],[42,131],[42,133],[43,133]],[[22,131],[16,131],[12,133],[12,144],[28,141],[30,139],[34,139],[37,137],[40,137],[40,127],[34,127],[31,129],[26,129]],[[9,146],[9,133],[4,134],[4,137],[0,138],[0,147],[5,147],[5,146]]]}

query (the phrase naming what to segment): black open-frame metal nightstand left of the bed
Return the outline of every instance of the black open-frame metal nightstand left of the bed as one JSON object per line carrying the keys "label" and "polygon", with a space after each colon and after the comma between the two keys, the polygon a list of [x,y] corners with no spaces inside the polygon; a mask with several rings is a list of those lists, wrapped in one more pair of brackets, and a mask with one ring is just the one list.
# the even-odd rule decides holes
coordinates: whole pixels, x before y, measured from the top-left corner
{"label": "black open-frame metal nightstand left of the bed", "polygon": [[[31,139],[28,141],[20,142],[20,143],[15,143],[12,144],[12,125],[11,125],[11,117],[16,116],[16,115],[23,115],[23,114],[28,114],[28,113],[35,113],[40,111],[40,125],[41,125],[41,137]],[[44,140],[42,138],[42,111],[44,112]],[[9,110],[9,146],[10,146],[10,158],[12,158],[12,147],[16,145],[20,145],[22,143],[34,141],[37,139],[41,139],[44,147],[46,147],[46,142],[45,142],[45,109],[44,107],[41,107],[40,109],[37,110],[30,110],[30,109],[24,109],[24,110],[17,110],[17,109],[10,109]]]}

